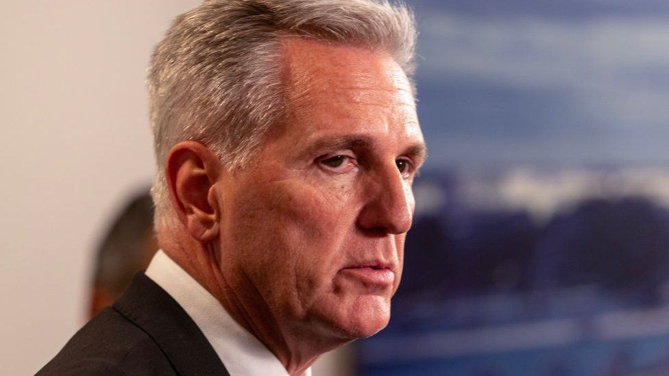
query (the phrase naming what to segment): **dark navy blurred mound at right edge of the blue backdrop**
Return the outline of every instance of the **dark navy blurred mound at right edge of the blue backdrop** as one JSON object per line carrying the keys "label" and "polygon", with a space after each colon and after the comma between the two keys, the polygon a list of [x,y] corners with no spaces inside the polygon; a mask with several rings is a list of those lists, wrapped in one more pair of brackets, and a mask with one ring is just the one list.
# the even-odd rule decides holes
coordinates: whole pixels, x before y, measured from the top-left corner
{"label": "dark navy blurred mound at right edge of the blue backdrop", "polygon": [[655,304],[669,279],[667,249],[664,208],[642,197],[594,199],[548,224],[536,253],[555,264],[536,273],[542,287],[598,284]]}

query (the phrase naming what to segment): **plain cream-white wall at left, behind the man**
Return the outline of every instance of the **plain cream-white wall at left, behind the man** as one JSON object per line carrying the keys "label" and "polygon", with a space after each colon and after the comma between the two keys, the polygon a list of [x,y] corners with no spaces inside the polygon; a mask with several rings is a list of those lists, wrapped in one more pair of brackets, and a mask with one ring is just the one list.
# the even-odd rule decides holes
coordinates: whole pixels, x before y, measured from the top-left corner
{"label": "plain cream-white wall at left, behind the man", "polygon": [[149,53],[197,3],[0,2],[0,375],[35,373],[84,323],[100,233],[154,171]]}

